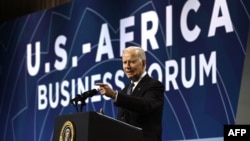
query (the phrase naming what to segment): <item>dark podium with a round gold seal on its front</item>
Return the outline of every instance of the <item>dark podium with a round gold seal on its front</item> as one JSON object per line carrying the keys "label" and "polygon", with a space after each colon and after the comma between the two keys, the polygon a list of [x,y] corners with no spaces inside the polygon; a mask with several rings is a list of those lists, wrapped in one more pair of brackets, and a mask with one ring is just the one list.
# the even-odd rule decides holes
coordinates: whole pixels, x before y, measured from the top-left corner
{"label": "dark podium with a round gold seal on its front", "polygon": [[79,112],[55,118],[53,141],[143,141],[143,134],[141,128],[111,117]]}

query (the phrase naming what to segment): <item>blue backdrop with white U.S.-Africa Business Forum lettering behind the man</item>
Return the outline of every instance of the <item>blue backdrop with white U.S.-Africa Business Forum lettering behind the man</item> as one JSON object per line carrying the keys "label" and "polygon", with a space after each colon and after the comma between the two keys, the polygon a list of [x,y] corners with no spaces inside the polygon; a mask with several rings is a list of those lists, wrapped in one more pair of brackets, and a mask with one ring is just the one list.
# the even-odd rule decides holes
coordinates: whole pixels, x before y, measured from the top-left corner
{"label": "blue backdrop with white U.S.-Africa Business Forum lettering behind the man", "polygon": [[[165,85],[165,140],[223,140],[236,119],[249,0],[73,0],[0,24],[0,140],[52,140],[70,99],[128,79],[121,51],[141,46],[147,72]],[[84,111],[104,108],[88,99]]]}

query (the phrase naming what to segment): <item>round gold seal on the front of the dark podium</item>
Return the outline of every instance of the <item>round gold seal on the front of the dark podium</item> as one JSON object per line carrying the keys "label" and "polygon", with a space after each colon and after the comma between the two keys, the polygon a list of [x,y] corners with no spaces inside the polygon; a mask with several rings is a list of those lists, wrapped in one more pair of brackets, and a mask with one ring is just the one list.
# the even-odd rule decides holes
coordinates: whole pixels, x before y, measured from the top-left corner
{"label": "round gold seal on the front of the dark podium", "polygon": [[74,139],[75,139],[74,125],[71,121],[66,121],[61,128],[59,141],[74,141]]}

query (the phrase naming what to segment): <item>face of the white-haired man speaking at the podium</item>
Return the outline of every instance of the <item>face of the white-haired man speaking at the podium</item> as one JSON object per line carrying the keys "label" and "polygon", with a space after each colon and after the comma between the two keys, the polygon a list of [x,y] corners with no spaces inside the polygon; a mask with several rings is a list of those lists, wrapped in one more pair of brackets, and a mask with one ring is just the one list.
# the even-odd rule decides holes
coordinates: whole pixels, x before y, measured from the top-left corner
{"label": "face of the white-haired man speaking at the podium", "polygon": [[122,55],[123,71],[132,81],[137,81],[144,72],[145,60],[141,60],[133,50],[126,50]]}

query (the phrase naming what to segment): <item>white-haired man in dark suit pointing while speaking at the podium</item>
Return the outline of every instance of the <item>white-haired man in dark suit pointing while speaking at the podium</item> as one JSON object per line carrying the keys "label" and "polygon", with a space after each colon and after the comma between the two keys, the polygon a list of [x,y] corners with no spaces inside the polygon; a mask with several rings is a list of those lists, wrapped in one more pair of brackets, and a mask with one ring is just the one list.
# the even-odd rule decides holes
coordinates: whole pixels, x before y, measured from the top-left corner
{"label": "white-haired man in dark suit pointing while speaking at the podium", "polygon": [[146,55],[140,47],[125,48],[123,70],[131,80],[120,92],[107,84],[97,83],[101,94],[114,100],[119,107],[117,118],[143,129],[144,141],[161,141],[164,104],[163,84],[146,73]]}

